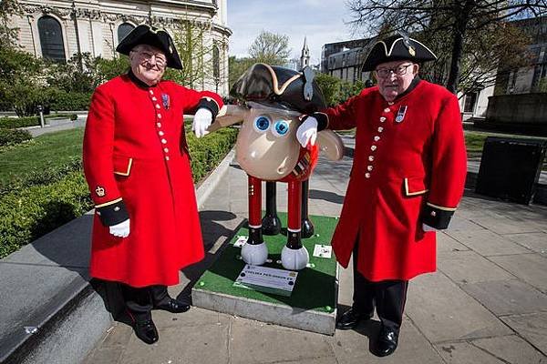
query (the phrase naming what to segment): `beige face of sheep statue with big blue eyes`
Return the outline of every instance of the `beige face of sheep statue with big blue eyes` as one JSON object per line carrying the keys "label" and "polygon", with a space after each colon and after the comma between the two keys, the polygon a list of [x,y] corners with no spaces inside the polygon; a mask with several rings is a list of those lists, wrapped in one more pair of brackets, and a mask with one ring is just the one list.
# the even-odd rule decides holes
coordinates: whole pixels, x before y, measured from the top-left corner
{"label": "beige face of sheep statue with big blue eyes", "polygon": [[248,110],[236,143],[237,160],[248,175],[275,181],[291,173],[300,155],[299,115],[258,104]]}

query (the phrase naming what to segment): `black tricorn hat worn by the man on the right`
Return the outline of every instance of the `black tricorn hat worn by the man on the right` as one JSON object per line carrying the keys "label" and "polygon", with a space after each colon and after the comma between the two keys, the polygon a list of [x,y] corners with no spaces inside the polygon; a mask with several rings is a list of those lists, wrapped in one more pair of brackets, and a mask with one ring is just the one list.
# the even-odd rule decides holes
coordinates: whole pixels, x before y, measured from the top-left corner
{"label": "black tricorn hat worn by the man on the right", "polygon": [[363,71],[372,71],[381,63],[408,60],[415,63],[437,59],[437,56],[416,39],[408,35],[397,34],[377,41],[366,56]]}

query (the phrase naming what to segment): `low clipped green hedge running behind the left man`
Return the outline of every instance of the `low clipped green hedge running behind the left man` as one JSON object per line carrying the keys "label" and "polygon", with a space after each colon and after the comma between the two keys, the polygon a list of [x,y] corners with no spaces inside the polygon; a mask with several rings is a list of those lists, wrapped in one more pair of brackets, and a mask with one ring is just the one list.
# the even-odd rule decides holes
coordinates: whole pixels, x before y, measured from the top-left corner
{"label": "low clipped green hedge running behind the left man", "polygon": [[[187,133],[194,181],[218,166],[236,137],[234,128],[224,128],[200,140]],[[0,194],[0,258],[93,207],[79,156],[65,166],[27,175],[9,191],[0,192],[4,193]]]}

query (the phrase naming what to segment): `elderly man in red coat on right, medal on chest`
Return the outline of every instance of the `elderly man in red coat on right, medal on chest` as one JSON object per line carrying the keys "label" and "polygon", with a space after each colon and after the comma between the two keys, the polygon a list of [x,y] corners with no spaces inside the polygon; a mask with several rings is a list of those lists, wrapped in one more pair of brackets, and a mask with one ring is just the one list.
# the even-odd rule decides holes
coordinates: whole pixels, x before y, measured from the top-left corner
{"label": "elderly man in red coat on right, medal on chest", "polygon": [[436,269],[435,230],[448,227],[463,194],[466,151],[458,99],[418,77],[435,56],[407,35],[378,41],[364,70],[377,86],[305,118],[297,137],[317,129],[356,128],[354,164],[332,245],[347,267],[354,256],[354,302],[336,322],[352,329],[377,310],[382,327],[373,353],[397,339],[408,280]]}

